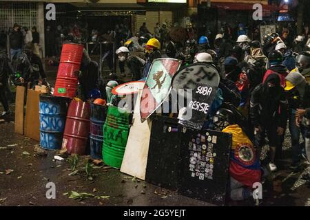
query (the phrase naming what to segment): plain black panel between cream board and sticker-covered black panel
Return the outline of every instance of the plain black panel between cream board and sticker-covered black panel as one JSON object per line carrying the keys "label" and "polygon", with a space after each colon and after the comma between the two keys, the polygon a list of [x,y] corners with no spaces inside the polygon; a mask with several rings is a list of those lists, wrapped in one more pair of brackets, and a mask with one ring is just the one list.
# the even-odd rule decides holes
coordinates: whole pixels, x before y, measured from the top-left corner
{"label": "plain black panel between cream board and sticker-covered black panel", "polygon": [[180,132],[178,119],[156,115],[152,120],[145,181],[177,190],[180,183]]}

